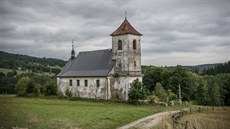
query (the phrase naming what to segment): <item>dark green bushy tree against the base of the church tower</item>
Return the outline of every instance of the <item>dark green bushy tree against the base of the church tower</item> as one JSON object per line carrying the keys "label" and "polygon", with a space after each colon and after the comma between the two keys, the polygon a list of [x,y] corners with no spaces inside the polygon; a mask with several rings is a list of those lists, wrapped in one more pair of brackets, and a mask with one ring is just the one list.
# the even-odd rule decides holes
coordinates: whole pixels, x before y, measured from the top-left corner
{"label": "dark green bushy tree against the base of the church tower", "polygon": [[136,79],[131,83],[128,96],[129,100],[134,101],[146,98],[147,91],[139,79]]}

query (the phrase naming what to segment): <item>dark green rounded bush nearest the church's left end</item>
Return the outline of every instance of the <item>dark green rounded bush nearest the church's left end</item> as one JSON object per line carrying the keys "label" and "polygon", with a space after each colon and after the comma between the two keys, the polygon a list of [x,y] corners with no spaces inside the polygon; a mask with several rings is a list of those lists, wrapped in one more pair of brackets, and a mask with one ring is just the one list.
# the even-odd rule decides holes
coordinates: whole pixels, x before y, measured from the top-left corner
{"label": "dark green rounded bush nearest the church's left end", "polygon": [[54,81],[48,82],[45,85],[45,95],[57,95],[57,84]]}

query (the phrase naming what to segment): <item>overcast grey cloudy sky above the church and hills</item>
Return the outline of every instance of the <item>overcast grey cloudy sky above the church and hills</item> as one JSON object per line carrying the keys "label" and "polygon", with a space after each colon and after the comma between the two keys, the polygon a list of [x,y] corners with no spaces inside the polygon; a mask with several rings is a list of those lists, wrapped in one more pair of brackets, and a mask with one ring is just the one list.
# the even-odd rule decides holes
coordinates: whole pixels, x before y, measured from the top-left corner
{"label": "overcast grey cloudy sky above the church and hills", "polygon": [[141,32],[142,65],[230,59],[230,0],[0,0],[0,51],[70,58],[110,49],[124,21]]}

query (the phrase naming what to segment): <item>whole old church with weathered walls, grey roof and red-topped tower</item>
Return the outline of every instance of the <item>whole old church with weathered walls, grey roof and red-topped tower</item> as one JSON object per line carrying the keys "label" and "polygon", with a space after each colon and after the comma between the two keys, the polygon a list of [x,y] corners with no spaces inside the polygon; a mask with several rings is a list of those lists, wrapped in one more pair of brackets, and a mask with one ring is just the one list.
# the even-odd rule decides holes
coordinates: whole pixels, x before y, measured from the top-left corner
{"label": "whole old church with weathered walls, grey roof and red-topped tower", "polygon": [[112,49],[83,51],[71,58],[57,75],[58,90],[79,98],[128,100],[130,84],[141,73],[141,36],[125,18],[110,34]]}

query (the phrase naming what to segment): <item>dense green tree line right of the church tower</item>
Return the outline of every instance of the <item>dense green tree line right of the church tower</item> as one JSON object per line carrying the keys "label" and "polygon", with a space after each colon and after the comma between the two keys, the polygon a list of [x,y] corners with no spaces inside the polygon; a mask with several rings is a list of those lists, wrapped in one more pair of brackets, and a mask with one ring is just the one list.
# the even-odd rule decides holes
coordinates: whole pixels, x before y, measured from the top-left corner
{"label": "dense green tree line right of the church tower", "polygon": [[230,105],[229,72],[201,75],[182,66],[146,67],[143,83],[134,81],[129,97],[133,100],[158,98],[159,101],[168,102],[178,99],[179,86],[183,101],[200,105]]}

